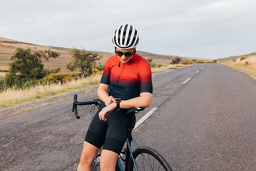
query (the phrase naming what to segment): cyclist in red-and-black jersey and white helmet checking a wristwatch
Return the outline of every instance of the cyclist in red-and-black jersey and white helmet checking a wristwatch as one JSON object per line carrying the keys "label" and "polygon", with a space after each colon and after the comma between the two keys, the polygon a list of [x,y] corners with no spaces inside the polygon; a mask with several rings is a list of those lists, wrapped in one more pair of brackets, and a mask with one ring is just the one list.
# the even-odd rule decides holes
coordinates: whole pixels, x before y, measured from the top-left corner
{"label": "cyclist in red-and-black jersey and white helmet checking a wristwatch", "polygon": [[136,53],[138,31],[130,24],[121,25],[115,30],[112,42],[116,55],[106,61],[97,91],[103,104],[88,128],[78,170],[92,170],[103,144],[100,169],[115,170],[127,138],[125,109],[148,107],[152,100],[151,68]]}

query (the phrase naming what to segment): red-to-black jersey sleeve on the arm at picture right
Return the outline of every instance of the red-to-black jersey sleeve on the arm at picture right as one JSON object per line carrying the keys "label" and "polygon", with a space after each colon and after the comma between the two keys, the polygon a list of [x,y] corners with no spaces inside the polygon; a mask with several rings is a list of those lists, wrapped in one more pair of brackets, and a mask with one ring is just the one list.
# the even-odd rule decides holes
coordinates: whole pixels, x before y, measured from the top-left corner
{"label": "red-to-black jersey sleeve on the arm at picture right", "polygon": [[140,93],[153,93],[151,68],[146,60],[140,64],[138,73],[140,77]]}

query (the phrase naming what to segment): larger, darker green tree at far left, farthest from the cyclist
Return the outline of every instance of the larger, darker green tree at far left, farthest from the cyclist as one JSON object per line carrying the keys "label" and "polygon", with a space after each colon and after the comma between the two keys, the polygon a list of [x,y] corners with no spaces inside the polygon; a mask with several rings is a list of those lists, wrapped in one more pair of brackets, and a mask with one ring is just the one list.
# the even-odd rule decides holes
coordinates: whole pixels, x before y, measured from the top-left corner
{"label": "larger, darker green tree at far left, farthest from the cyclist", "polygon": [[44,77],[42,59],[49,60],[58,56],[59,53],[51,50],[32,51],[31,49],[17,48],[11,57],[12,63],[9,63],[9,75],[16,77],[18,74],[19,78],[26,81],[33,79],[33,82],[36,83],[36,79]]}

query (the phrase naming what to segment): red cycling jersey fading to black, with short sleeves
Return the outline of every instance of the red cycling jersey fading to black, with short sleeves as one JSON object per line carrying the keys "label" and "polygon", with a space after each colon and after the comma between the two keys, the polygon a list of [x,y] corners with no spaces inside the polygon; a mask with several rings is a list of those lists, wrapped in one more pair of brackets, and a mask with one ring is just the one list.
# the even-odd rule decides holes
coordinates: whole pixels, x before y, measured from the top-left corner
{"label": "red cycling jersey fading to black, with short sleeves", "polygon": [[122,100],[139,97],[141,92],[153,92],[150,65],[136,53],[125,64],[117,55],[110,57],[100,83],[110,85],[109,95]]}

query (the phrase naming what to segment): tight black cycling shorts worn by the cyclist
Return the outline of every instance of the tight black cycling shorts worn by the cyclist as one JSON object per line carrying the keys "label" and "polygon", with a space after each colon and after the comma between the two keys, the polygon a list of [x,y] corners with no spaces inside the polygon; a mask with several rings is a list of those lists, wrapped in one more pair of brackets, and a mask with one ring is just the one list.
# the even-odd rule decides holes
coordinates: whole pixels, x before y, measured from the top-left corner
{"label": "tight black cycling shorts worn by the cyclist", "polygon": [[[107,117],[106,121],[100,121],[98,113],[105,107],[102,104],[92,119],[84,141],[94,145],[97,148],[111,150],[121,153],[125,140],[128,136],[128,116],[125,109],[114,110]],[[133,127],[135,126],[135,115],[133,118]]]}

